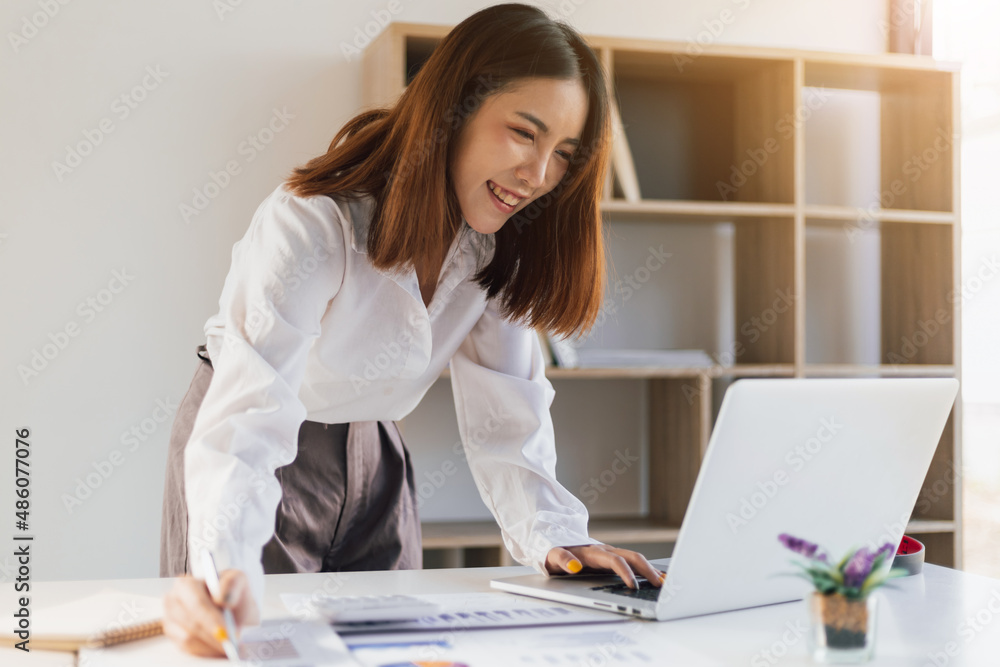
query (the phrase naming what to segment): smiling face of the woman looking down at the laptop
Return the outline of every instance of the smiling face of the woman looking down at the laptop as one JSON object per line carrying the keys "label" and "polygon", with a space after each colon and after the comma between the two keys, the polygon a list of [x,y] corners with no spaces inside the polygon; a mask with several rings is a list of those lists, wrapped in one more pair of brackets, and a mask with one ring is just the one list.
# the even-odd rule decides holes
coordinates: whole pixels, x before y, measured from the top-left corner
{"label": "smiling face of the woman looking down at the laptop", "polygon": [[[449,165],[469,226],[492,234],[552,190],[578,149],[586,120],[587,93],[576,79],[525,79],[486,98],[459,133]],[[509,204],[493,193],[498,187]]]}

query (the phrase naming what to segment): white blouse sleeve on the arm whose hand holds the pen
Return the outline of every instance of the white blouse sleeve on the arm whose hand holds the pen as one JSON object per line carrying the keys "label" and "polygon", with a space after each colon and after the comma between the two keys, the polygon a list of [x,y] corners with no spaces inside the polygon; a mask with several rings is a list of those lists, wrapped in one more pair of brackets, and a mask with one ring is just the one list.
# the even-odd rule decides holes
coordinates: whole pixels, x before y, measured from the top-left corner
{"label": "white blouse sleeve on the arm whose hand holds the pen", "polygon": [[219,299],[222,342],[184,453],[188,555],[201,577],[209,548],[219,570],[248,575],[263,609],[261,554],[274,533],[281,486],[306,409],[298,397],[320,320],[343,283],[336,204],[279,189],[261,203]]}

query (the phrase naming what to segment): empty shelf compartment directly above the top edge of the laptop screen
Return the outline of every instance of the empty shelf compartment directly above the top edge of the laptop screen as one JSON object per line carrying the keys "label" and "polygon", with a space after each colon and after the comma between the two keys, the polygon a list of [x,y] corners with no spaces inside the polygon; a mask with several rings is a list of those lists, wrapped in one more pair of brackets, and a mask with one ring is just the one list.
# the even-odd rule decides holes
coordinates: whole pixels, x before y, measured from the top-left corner
{"label": "empty shelf compartment directly above the top edge of the laptop screen", "polygon": [[807,369],[907,376],[953,366],[955,231],[950,222],[862,228],[807,218]]}

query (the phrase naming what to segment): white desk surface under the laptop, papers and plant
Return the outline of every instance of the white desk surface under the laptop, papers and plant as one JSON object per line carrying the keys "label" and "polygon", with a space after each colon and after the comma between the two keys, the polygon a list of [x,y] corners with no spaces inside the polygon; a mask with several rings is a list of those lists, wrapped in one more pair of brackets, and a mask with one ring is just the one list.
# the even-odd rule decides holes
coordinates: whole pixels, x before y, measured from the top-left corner
{"label": "white desk surface under the laptop, papers and plant", "polygon": [[[489,592],[491,578],[529,572],[529,568],[512,567],[268,575],[263,615],[265,618],[290,615],[279,598],[283,592]],[[32,597],[35,605],[49,605],[85,597],[109,585],[142,595],[162,595],[169,590],[172,581],[123,579],[36,583]],[[803,582],[803,585],[807,584]],[[882,589],[876,657],[868,664],[1000,665],[1000,580],[926,565],[921,575],[896,580],[893,586],[895,589]],[[652,656],[653,660],[647,663],[650,665],[669,662],[684,667],[700,664],[771,667],[813,664],[800,634],[804,620],[803,603],[792,602],[665,623],[628,621],[585,627],[591,629],[590,636],[605,639],[609,633],[621,632],[628,638],[628,646]],[[145,641],[170,642],[165,637]],[[615,650],[612,649],[612,653]],[[612,660],[601,664],[640,664],[631,659],[625,661],[623,656],[624,650],[621,655],[612,655]],[[598,662],[589,664],[600,667]],[[74,662],[71,654],[32,652],[29,656],[20,651],[0,649],[0,665],[71,667]]]}

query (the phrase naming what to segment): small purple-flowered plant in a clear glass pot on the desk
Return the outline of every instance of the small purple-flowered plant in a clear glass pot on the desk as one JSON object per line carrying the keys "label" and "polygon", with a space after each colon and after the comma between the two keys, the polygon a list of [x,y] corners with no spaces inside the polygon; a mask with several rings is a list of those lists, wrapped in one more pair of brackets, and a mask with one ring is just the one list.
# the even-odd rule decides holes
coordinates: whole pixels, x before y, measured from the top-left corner
{"label": "small purple-flowered plant in a clear glass pot on the desk", "polygon": [[878,598],[872,591],[889,579],[905,576],[889,569],[887,559],[895,545],[886,542],[876,550],[852,549],[834,563],[818,545],[782,533],[778,539],[807,562],[793,561],[815,590],[806,597],[809,612],[807,640],[818,662],[865,662],[875,647],[875,614]]}

